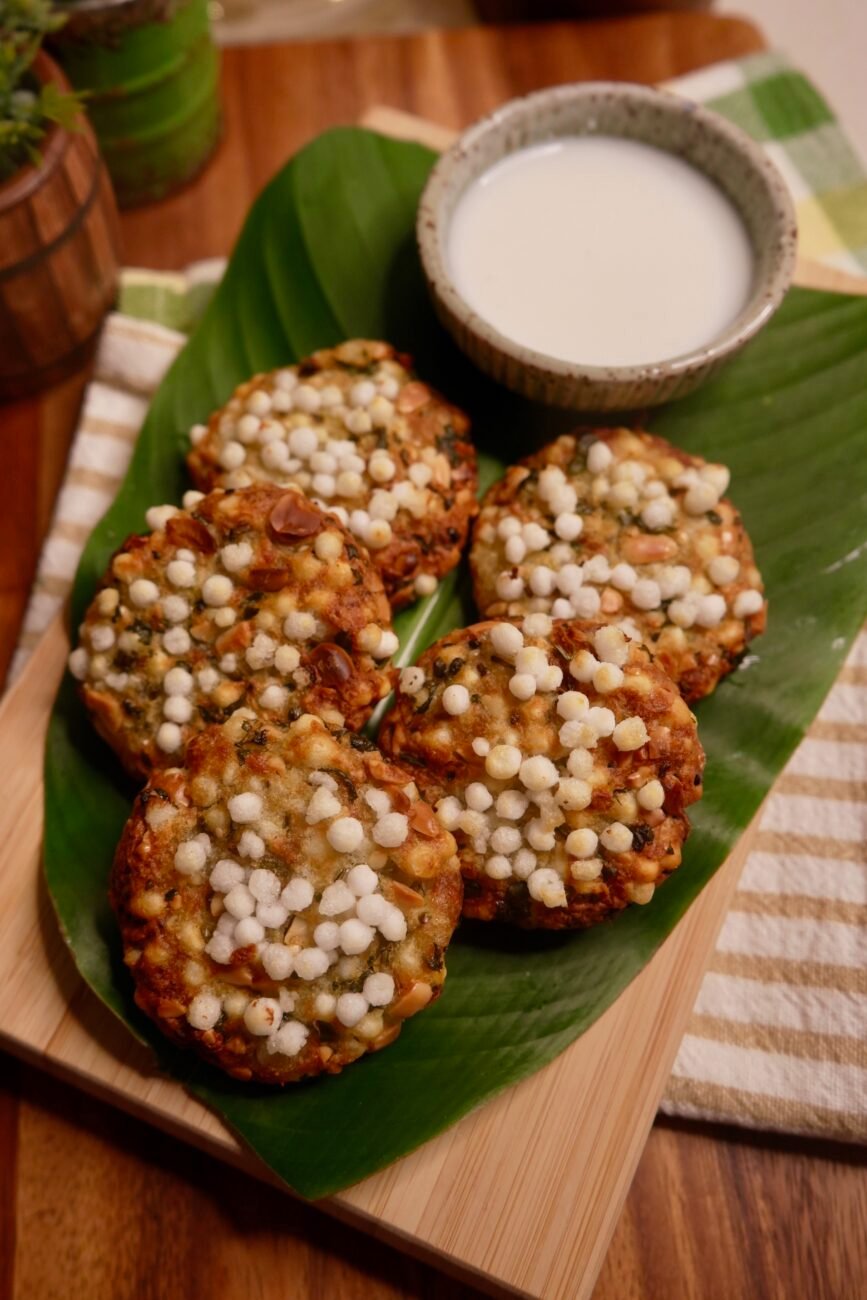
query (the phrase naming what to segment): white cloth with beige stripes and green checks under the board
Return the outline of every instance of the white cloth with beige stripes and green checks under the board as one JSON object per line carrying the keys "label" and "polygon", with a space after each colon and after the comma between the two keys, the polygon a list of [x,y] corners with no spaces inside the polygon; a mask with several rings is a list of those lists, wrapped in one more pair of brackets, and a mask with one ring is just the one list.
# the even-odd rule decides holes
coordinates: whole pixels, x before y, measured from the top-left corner
{"label": "white cloth with beige stripes and green checks under the board", "polygon": [[[867,272],[867,178],[799,73],[779,55],[759,55],[669,88],[764,143],[793,191],[806,256]],[[148,398],[224,265],[123,273],[12,676],[68,594]],[[867,632],[764,807],[663,1110],[867,1141]]]}

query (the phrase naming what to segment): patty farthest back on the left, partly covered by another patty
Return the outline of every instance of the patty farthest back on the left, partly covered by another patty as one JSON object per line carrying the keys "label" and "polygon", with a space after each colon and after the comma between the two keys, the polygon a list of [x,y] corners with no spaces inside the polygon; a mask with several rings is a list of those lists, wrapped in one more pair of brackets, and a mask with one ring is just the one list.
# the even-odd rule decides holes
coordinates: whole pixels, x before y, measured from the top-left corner
{"label": "patty farthest back on the left, partly covered by another patty", "polygon": [[478,510],[476,451],[467,416],[411,364],[360,339],[257,374],[192,430],[195,484],[296,484],[370,550],[395,608],[429,595]]}

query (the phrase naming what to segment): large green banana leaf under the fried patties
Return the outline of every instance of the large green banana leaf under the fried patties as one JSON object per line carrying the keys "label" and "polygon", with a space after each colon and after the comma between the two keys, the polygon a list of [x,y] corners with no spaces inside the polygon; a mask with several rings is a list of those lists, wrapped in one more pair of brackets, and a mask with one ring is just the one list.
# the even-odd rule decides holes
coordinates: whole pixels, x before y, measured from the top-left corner
{"label": "large green banana leaf under the fried patties", "polygon": [[[255,370],[354,335],[415,354],[471,412],[485,481],[568,416],[497,390],[437,325],[415,251],[426,150],[330,131],[252,208],[201,324],[162,382],[114,506],[81,563],[73,624],[148,506],[183,491],[186,430]],[[767,636],[699,708],[706,794],[681,870],[653,905],[588,933],[464,926],[439,1002],[344,1074],[282,1093],[237,1084],[166,1045],[136,1011],[105,898],[133,790],[61,688],[45,762],[45,872],[91,988],[162,1067],[292,1188],[318,1197],[412,1150],[551,1061],[641,971],[724,861],[815,715],[864,614],[867,299],[793,291],[715,382],[650,426],[728,463],[771,599]],[[472,621],[465,575],[402,614],[402,662]],[[580,1105],[580,1098],[576,1098]]]}

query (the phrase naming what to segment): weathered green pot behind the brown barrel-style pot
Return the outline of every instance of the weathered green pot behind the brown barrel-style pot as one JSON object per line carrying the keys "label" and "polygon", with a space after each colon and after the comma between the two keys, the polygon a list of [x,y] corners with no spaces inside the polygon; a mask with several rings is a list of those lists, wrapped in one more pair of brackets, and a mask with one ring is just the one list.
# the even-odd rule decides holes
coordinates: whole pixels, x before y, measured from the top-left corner
{"label": "weathered green pot behind the brown barrel-style pot", "polygon": [[220,57],[207,0],[66,0],[53,47],[87,114],[121,207],[188,181],[220,135]]}

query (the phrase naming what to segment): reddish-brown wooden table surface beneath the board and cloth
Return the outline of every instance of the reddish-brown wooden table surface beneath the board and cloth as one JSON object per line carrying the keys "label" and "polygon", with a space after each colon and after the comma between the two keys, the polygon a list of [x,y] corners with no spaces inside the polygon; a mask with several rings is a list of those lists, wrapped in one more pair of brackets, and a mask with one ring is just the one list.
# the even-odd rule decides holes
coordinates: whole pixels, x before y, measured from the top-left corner
{"label": "reddish-brown wooden table surface beneath the board and cloth", "polygon": [[[123,217],[123,260],[177,268],[227,252],[291,151],[373,104],[458,127],[545,84],[654,82],[760,47],[747,23],[692,14],[230,51],[217,159],[182,194]],[[83,381],[0,407],[0,679]],[[855,1300],[867,1294],[864,1242],[859,1152],[659,1122],[595,1297]],[[0,1056],[0,1300],[473,1294]]]}

